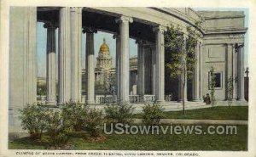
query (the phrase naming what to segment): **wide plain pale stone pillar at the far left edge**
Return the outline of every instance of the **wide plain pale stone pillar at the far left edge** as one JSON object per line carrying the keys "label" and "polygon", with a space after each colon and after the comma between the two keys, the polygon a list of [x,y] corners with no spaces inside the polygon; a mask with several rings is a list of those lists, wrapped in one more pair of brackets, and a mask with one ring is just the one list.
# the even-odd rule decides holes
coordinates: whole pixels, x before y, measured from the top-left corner
{"label": "wide plain pale stone pillar at the far left edge", "polygon": [[[22,135],[20,132],[24,130],[20,126],[19,109],[23,109],[27,104],[37,103],[37,7],[10,7],[9,9],[9,25],[7,25],[9,39],[7,40],[10,42],[9,52],[6,54],[9,60],[1,58],[1,62],[9,62],[9,82],[3,82],[1,78],[1,85],[9,83],[9,88],[4,89],[9,93],[8,97],[5,97],[9,101],[9,106],[6,106],[9,111],[4,111],[9,114],[9,135],[20,137]],[[5,95],[1,93],[1,98]]]}

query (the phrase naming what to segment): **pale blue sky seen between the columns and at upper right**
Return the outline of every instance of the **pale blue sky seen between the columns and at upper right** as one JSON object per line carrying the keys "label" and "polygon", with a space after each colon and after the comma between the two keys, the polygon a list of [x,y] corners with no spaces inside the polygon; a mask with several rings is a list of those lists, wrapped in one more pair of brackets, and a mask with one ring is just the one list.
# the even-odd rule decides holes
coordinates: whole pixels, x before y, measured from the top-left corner
{"label": "pale blue sky seen between the columns and at upper right", "polygon": [[[218,11],[243,11],[244,14],[246,15],[245,17],[245,27],[248,26],[248,18],[249,18],[249,10],[248,8],[193,8],[195,10],[218,10]],[[42,22],[38,22],[38,29],[37,29],[37,54],[38,54],[38,76],[46,76],[46,40],[47,40],[47,31],[44,28],[44,23]],[[247,67],[247,54],[248,54],[248,44],[249,44],[249,40],[248,40],[248,31],[245,35],[245,47],[244,47],[244,52],[245,52],[245,67]],[[58,29],[56,29],[55,32],[56,35],[56,41],[58,41]],[[109,51],[110,51],[110,55],[113,57],[113,66],[115,64],[115,39],[113,39],[113,34],[110,33],[106,33],[106,32],[102,32],[102,31],[98,31],[95,36],[94,36],[94,49],[95,49],[95,59],[98,56],[98,51],[99,48],[102,45],[103,42],[103,38],[106,39],[106,42],[108,44],[109,47]],[[82,58],[82,67],[85,67],[85,41],[86,41],[86,36],[84,33],[82,33],[82,54],[81,54],[81,58]],[[130,39],[130,57],[137,55],[137,44],[135,42],[135,40]],[[58,44],[56,42],[56,57],[55,57],[55,63],[57,63],[57,53],[58,53]],[[96,62],[95,62],[96,63]],[[57,64],[55,64],[55,69],[57,71]]]}

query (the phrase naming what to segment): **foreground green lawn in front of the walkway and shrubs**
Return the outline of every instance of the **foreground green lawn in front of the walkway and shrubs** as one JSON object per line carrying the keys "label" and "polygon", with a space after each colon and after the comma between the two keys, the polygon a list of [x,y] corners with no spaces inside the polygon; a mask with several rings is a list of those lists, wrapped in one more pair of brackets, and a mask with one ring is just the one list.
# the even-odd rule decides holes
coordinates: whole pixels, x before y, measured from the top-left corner
{"label": "foreground green lawn in front of the walkway and shrubs", "polygon": [[[207,126],[203,126],[203,131]],[[73,149],[94,150],[247,150],[247,126],[237,126],[235,135],[105,135],[103,142],[90,142],[81,135],[73,135]],[[46,149],[47,143],[35,142],[28,137],[9,142],[9,149]]]}

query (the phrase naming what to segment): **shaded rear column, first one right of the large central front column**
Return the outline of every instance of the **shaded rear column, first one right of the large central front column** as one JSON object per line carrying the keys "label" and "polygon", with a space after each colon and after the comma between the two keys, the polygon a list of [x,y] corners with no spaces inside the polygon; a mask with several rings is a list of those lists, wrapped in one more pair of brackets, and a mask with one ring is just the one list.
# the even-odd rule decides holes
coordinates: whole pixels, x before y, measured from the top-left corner
{"label": "shaded rear column, first one right of the large central front column", "polygon": [[145,94],[145,57],[143,41],[137,41],[137,93],[141,96]]}

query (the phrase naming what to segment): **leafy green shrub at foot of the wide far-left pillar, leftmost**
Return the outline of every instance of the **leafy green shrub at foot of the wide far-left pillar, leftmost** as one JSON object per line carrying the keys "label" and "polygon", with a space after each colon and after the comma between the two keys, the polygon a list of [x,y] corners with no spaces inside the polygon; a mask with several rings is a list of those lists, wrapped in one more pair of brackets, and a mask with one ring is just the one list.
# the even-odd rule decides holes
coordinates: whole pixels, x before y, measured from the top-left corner
{"label": "leafy green shrub at foot of the wide far-left pillar, leftmost", "polygon": [[48,123],[48,111],[49,109],[37,104],[27,104],[20,109],[21,126],[28,130],[32,139],[41,139]]}

